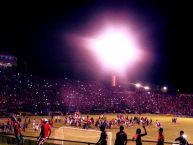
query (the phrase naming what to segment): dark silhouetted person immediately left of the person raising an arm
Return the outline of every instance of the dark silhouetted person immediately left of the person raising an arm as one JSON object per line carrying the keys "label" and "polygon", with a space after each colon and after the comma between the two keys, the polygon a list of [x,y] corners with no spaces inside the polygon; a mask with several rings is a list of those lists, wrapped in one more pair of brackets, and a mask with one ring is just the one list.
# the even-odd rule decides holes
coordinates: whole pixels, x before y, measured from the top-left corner
{"label": "dark silhouetted person immediately left of the person raising an arm", "polygon": [[127,134],[123,131],[124,127],[120,126],[120,131],[116,134],[115,145],[126,145],[127,144]]}

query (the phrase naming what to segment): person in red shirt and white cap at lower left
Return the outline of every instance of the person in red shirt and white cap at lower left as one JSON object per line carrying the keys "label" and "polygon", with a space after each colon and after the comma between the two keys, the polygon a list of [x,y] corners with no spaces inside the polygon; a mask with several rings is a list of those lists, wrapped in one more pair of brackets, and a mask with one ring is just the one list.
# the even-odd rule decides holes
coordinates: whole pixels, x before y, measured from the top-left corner
{"label": "person in red shirt and white cap at lower left", "polygon": [[47,138],[51,135],[51,127],[48,123],[48,119],[42,120],[41,131],[38,139],[37,145],[43,145]]}

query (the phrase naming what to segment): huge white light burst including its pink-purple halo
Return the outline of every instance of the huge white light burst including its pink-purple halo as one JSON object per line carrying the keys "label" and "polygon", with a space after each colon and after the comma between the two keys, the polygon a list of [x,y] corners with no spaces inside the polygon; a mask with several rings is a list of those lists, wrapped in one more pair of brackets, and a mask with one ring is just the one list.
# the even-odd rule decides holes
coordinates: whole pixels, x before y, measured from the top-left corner
{"label": "huge white light burst including its pink-purple halo", "polygon": [[144,65],[153,62],[146,30],[135,15],[105,11],[88,21],[79,34],[66,37],[72,48],[80,48],[72,52],[76,61],[81,58],[81,62],[88,62],[89,69],[95,66],[100,74],[124,78],[139,72],[145,75],[148,67]]}

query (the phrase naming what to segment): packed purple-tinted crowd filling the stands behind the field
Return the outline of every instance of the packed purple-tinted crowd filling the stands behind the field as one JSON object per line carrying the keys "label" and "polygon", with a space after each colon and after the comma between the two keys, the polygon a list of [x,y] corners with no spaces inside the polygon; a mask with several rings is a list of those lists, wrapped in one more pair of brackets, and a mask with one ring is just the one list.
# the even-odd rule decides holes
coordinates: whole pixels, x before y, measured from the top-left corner
{"label": "packed purple-tinted crowd filling the stands behind the field", "polygon": [[0,69],[0,110],[132,112],[193,116],[193,97],[153,91],[120,93],[98,81],[51,79]]}

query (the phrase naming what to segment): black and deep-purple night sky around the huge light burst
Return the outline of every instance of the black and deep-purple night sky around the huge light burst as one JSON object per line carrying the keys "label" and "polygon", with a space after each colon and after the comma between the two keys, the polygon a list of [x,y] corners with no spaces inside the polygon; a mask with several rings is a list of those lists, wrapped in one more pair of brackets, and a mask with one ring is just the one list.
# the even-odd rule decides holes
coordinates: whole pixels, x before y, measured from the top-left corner
{"label": "black and deep-purple night sky around the huge light burst", "polygon": [[[70,2],[70,3],[69,3]],[[50,77],[96,79],[77,48],[64,35],[79,32],[98,13],[133,13],[147,27],[155,62],[149,74],[134,81],[174,86],[193,92],[191,10],[188,3],[163,0],[69,1],[65,3],[7,3],[0,5],[0,52],[17,55],[18,68]],[[77,67],[79,66],[79,67]]]}

